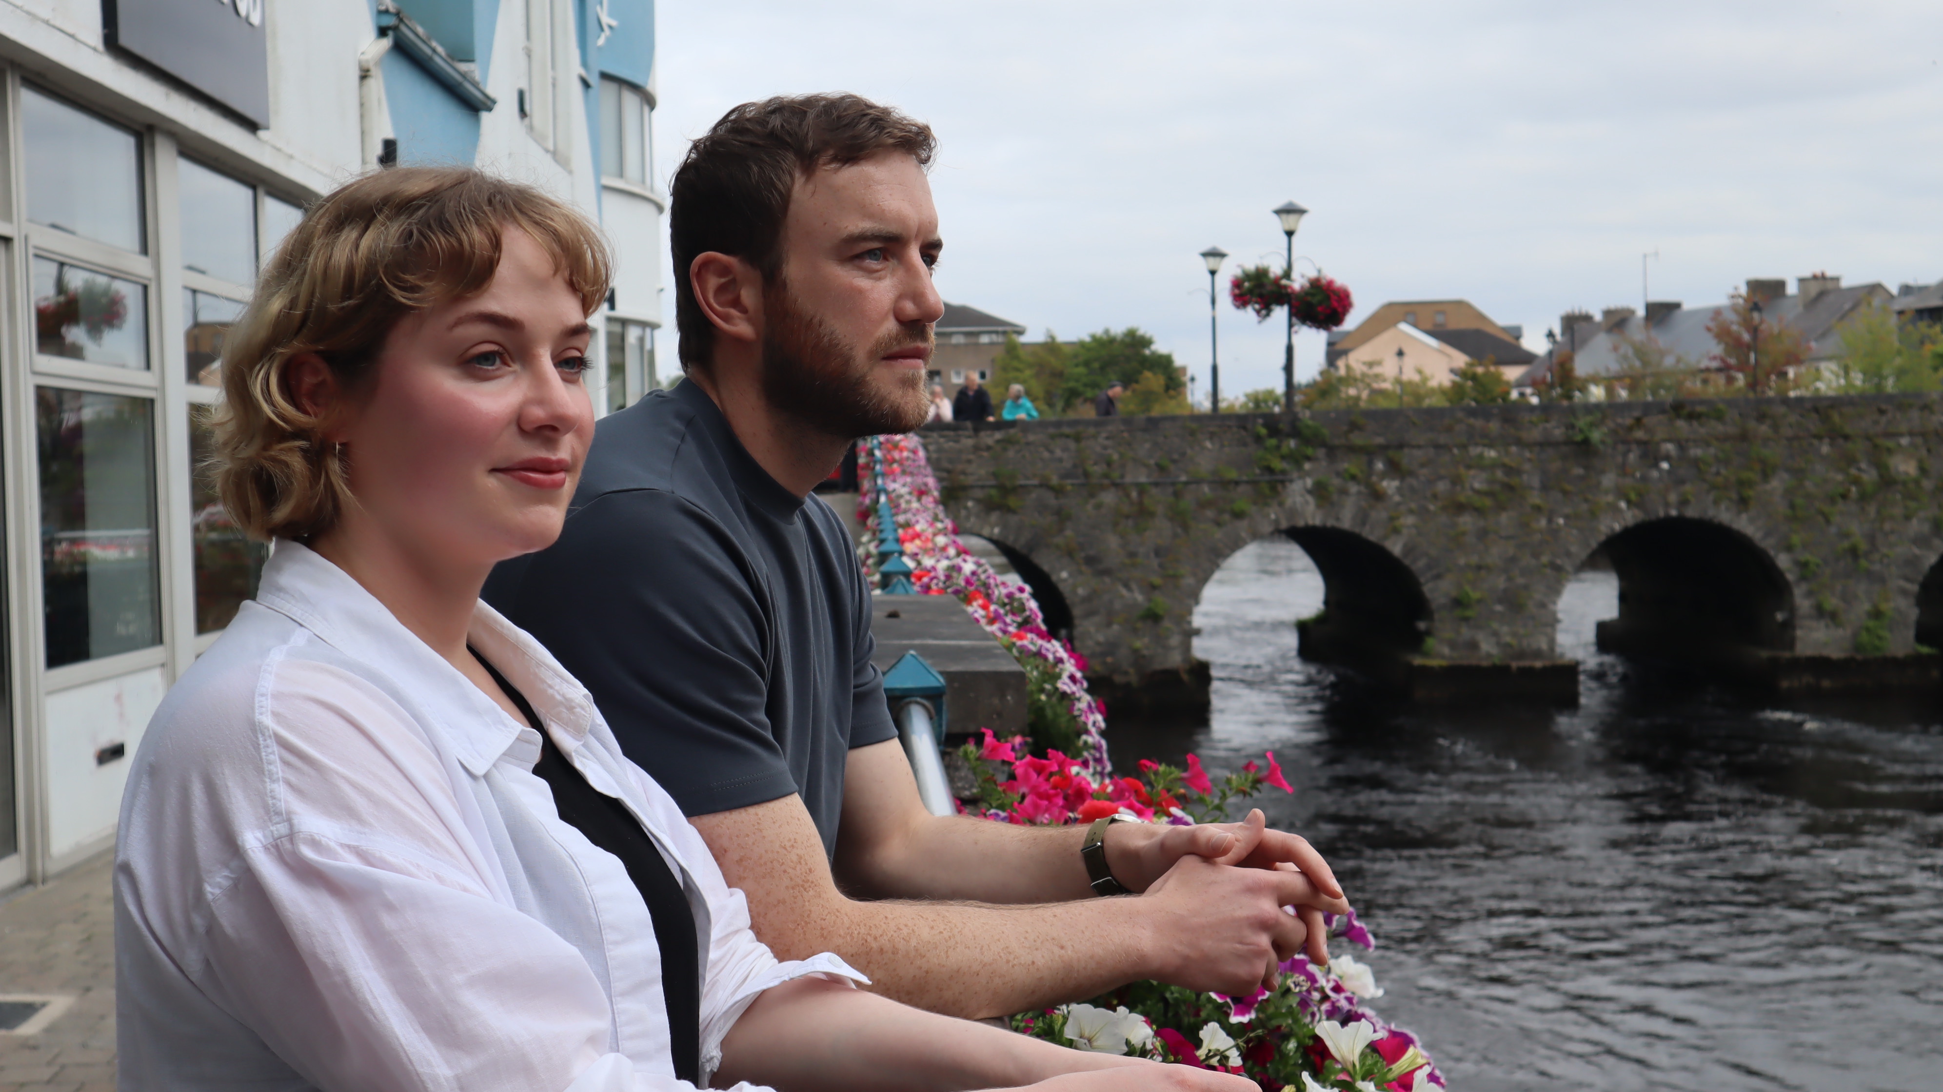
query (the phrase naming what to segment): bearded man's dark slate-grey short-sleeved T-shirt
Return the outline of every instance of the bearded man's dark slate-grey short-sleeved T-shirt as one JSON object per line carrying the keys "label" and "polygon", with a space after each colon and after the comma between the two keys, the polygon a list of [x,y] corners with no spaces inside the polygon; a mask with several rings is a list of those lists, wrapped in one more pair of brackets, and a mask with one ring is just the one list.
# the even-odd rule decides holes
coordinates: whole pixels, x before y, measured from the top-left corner
{"label": "bearded man's dark slate-grey short-sleeved T-shirt", "polygon": [[682,383],[600,420],[560,540],[484,595],[684,812],[799,793],[834,853],[849,748],[898,736],[855,550]]}

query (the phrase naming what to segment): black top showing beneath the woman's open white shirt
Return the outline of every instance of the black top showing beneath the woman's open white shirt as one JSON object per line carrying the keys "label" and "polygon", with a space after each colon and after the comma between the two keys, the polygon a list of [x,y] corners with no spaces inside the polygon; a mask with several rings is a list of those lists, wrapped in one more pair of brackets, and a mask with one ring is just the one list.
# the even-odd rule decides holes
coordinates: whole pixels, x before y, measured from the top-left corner
{"label": "black top showing beneath the woman's open white shirt", "polygon": [[595,789],[567,756],[554,744],[527,696],[472,651],[472,659],[492,674],[499,690],[519,705],[532,731],[540,733],[540,762],[532,771],[554,791],[560,822],[579,830],[597,849],[620,859],[628,878],[641,890],[647,915],[655,921],[655,946],[661,948],[661,997],[668,1007],[668,1053],[674,1076],[701,1084],[701,940],[696,937],[696,913],[682,892],[682,880],[668,859],[655,847],[628,804]]}

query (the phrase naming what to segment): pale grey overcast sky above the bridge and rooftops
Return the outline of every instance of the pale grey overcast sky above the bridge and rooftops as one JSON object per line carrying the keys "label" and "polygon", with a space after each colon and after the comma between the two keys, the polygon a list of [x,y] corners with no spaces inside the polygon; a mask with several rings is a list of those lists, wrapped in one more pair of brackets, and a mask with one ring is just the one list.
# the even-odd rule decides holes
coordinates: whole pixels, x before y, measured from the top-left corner
{"label": "pale grey overcast sky above the bridge and rooftops", "polygon": [[[857,91],[931,122],[944,299],[1141,326],[1207,394],[1209,245],[1356,295],[1461,297],[1543,348],[1572,307],[1751,276],[1943,278],[1943,4],[661,0],[663,173],[729,107]],[[665,274],[672,276],[672,274]],[[665,319],[672,338],[674,295]],[[1280,387],[1220,303],[1222,389]],[[672,342],[666,344],[672,358]],[[1321,336],[1298,336],[1302,375]]]}

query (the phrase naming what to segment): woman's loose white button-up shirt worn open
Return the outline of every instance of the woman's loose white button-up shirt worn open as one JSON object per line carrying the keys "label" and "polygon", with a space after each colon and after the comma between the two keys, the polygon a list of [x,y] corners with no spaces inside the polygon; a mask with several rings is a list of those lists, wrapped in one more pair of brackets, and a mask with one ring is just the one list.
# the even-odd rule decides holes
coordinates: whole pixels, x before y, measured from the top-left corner
{"label": "woman's loose white button-up shirt worn open", "polygon": [[[742,892],[546,649],[484,602],[470,641],[680,876],[703,1084],[764,989],[863,981],[837,956],[781,964],[756,940]],[[538,733],[350,575],[278,542],[128,773],[122,1088],[688,1088],[647,905],[560,820],[538,756]]]}

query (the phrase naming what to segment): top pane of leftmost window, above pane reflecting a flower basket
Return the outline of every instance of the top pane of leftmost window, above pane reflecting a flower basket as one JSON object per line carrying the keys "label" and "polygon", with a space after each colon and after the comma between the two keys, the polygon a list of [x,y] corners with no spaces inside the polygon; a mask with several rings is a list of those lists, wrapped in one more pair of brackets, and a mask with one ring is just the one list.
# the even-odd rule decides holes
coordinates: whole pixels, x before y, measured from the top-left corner
{"label": "top pane of leftmost window, above pane reflecting a flower basket", "polygon": [[146,255],[140,138],[33,87],[21,89],[19,124],[27,220]]}

